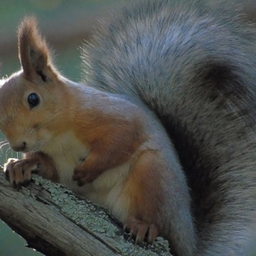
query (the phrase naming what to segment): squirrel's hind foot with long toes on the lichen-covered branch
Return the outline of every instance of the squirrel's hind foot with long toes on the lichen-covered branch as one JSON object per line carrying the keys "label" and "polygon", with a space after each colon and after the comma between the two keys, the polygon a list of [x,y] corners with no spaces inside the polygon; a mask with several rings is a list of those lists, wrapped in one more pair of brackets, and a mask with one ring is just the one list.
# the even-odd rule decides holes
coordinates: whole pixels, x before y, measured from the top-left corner
{"label": "squirrel's hind foot with long toes on the lichen-covered branch", "polygon": [[152,243],[159,236],[155,224],[148,224],[131,216],[126,219],[124,230],[139,244],[143,242]]}

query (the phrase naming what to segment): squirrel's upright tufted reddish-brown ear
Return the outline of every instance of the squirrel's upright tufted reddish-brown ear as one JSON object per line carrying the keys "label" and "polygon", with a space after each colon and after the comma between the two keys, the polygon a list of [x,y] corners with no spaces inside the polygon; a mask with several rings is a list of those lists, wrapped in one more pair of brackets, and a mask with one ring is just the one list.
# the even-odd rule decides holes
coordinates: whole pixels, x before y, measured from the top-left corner
{"label": "squirrel's upright tufted reddish-brown ear", "polygon": [[38,32],[37,20],[25,18],[19,27],[19,56],[25,78],[31,82],[49,82],[56,77],[47,44]]}

